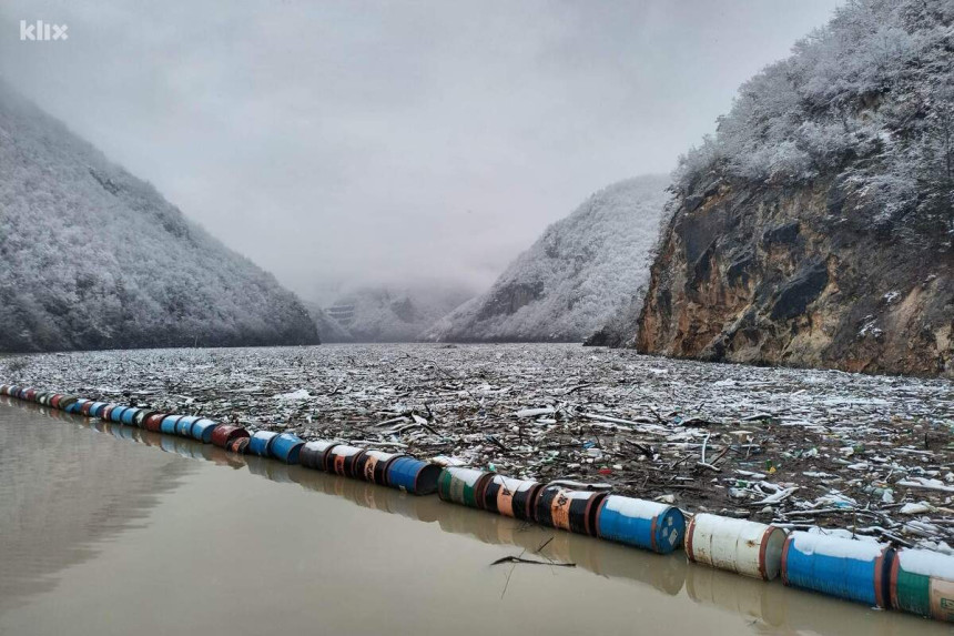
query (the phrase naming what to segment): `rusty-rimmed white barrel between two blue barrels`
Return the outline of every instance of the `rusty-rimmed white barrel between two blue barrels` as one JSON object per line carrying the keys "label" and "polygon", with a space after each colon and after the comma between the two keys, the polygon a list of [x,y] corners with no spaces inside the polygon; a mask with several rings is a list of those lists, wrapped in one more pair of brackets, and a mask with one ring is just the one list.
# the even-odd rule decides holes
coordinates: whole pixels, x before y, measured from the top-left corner
{"label": "rusty-rimmed white barrel between two blue barrels", "polygon": [[781,528],[704,513],[686,531],[689,561],[765,581],[779,576],[784,545]]}

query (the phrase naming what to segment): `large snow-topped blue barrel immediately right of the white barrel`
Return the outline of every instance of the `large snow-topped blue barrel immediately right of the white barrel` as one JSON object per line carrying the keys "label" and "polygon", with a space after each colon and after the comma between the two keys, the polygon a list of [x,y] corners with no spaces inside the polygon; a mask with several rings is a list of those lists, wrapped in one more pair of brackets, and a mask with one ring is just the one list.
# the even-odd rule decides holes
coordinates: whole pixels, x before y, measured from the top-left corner
{"label": "large snow-topped blue barrel immediately right of the white barrel", "polygon": [[887,606],[891,546],[794,532],[782,548],[782,581],[792,587]]}

